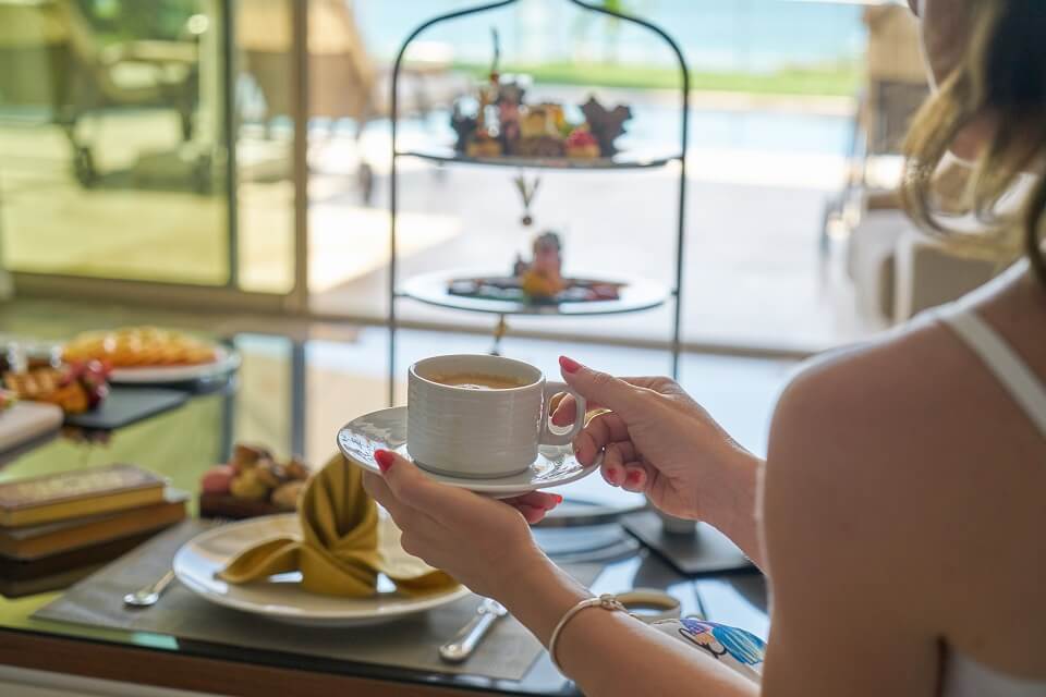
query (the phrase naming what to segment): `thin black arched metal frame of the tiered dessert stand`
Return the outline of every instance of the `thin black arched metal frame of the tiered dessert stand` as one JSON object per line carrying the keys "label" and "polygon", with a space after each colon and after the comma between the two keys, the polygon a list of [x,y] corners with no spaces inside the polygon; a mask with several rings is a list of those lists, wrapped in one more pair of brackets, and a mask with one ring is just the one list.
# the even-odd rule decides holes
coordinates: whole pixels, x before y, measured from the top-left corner
{"label": "thin black arched metal frame of the tiered dessert stand", "polygon": [[[400,84],[400,74],[403,63],[403,57],[406,53],[408,48],[415,38],[426,29],[431,28],[437,24],[449,22],[451,20],[457,20],[464,16],[470,16],[474,14],[481,14],[488,12],[490,10],[497,10],[499,8],[506,8],[511,4],[515,4],[519,0],[499,0],[498,2],[488,2],[486,4],[476,5],[474,8],[466,8],[464,10],[458,10],[455,12],[448,12],[447,14],[441,14],[435,16],[427,22],[418,25],[413,32],[411,32],[403,44],[400,46],[400,50],[396,54],[396,62],[392,65],[392,94],[391,94],[391,110],[390,119],[392,125],[392,161],[391,169],[389,172],[389,406],[393,406],[396,402],[396,333],[397,333],[397,314],[396,314],[396,302],[400,297],[399,292],[397,291],[397,281],[398,281],[398,269],[397,269],[397,244],[396,244],[396,233],[397,233],[397,213],[399,206],[399,180],[398,180],[398,168],[397,160],[406,155],[400,152],[397,149],[397,132],[399,126],[399,84]],[[676,54],[677,61],[679,61],[679,71],[680,77],[682,78],[682,129],[680,133],[680,150],[679,155],[674,158],[679,160],[679,208],[678,208],[678,218],[677,218],[677,239],[676,239],[676,282],[672,286],[672,297],[674,299],[673,307],[673,321],[672,321],[672,377],[679,377],[679,357],[680,357],[680,325],[682,320],[682,285],[683,285],[683,243],[684,243],[684,233],[685,233],[685,209],[686,209],[686,142],[688,142],[688,131],[690,126],[690,72],[686,69],[686,60],[683,58],[683,52],[680,49],[679,45],[672,39],[671,36],[662,28],[647,22],[637,16],[630,14],[624,14],[621,12],[615,12],[606,8],[598,7],[592,2],[586,2],[585,0],[567,0],[571,4],[574,4],[582,10],[588,12],[595,12],[598,14],[605,14],[611,17],[617,17],[623,22],[634,24],[636,26],[643,27],[648,32],[656,34],[660,37],[668,46],[672,49],[672,52]],[[506,164],[511,164],[507,162]]]}

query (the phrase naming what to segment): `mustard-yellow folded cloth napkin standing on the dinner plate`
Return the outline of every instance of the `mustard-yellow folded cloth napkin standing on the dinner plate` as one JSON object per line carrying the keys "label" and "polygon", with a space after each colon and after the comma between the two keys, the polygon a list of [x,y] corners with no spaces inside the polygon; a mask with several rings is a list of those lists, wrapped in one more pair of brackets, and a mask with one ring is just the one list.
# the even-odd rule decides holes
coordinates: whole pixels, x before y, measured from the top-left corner
{"label": "mustard-yellow folded cloth napkin standing on the dinner plate", "polygon": [[306,590],[345,597],[373,596],[379,573],[410,596],[442,592],[458,585],[403,551],[391,521],[379,524],[377,505],[363,489],[363,470],[341,455],[305,487],[299,519],[301,539],[263,540],[240,553],[218,577],[243,584],[301,571]]}

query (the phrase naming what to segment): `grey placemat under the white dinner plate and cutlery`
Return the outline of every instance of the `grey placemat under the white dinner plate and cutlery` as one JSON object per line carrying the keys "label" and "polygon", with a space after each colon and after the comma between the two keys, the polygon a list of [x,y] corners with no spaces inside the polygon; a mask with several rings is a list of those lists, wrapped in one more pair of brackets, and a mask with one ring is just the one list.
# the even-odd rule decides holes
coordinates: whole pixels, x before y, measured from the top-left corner
{"label": "grey placemat under the white dinner plate and cutlery", "polygon": [[[124,608],[125,592],[159,578],[170,568],[179,547],[210,525],[185,521],[80,582],[33,616],[241,648],[513,681],[521,680],[544,650],[522,624],[509,616],[494,626],[466,662],[442,662],[438,647],[472,619],[479,604],[476,596],[394,623],[348,628],[280,624],[209,603],[180,584],[174,584],[151,608]],[[589,585],[600,568],[583,564],[571,565],[567,571]]]}

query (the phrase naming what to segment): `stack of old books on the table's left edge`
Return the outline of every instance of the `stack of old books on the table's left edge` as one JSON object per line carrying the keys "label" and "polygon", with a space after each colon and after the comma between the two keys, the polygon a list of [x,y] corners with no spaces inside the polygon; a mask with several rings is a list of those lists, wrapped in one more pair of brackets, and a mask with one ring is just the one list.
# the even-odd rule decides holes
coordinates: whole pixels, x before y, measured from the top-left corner
{"label": "stack of old books on the table's left edge", "polygon": [[182,521],[187,500],[134,465],[0,484],[0,595],[72,585]]}

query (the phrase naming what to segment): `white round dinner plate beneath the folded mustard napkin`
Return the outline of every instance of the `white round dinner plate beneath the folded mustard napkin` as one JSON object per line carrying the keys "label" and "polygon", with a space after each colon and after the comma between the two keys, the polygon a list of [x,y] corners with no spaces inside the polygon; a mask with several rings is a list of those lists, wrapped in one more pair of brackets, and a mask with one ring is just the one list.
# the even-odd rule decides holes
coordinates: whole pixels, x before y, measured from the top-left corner
{"label": "white round dinner plate beneath the folded mustard napkin", "polygon": [[[242,585],[229,584],[216,576],[248,547],[275,537],[299,536],[300,531],[295,513],[267,515],[211,528],[178,550],[174,575],[204,600],[277,622],[306,626],[344,627],[391,622],[445,606],[471,592],[464,586],[457,586],[442,594],[411,598],[397,592],[388,578],[379,576],[378,592],[373,597],[340,598],[304,590],[297,572]],[[399,535],[385,513],[379,517],[378,535]]]}

